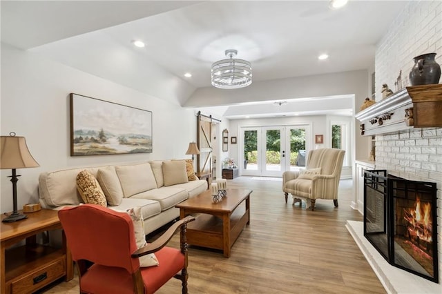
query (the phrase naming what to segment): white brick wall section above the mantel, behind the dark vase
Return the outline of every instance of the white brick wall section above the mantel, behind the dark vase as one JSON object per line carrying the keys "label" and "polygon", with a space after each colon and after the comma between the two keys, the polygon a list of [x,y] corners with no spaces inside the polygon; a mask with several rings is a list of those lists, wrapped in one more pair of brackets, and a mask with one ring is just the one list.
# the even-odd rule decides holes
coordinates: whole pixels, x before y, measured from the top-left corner
{"label": "white brick wall section above the mantel, behind the dark vase", "polygon": [[[404,2],[407,3],[407,2]],[[442,63],[442,1],[410,1],[392,22],[376,46],[376,101],[382,99],[382,84],[395,92],[394,82],[402,70],[403,86],[410,86],[408,75],[413,57],[436,53]]]}

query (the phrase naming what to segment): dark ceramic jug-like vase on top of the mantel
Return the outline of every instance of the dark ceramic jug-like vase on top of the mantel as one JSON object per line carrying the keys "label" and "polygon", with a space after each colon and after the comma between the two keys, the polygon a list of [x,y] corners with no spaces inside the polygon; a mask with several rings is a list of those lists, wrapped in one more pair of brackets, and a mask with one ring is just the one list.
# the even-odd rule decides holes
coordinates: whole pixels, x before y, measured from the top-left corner
{"label": "dark ceramic jug-like vase on top of the mantel", "polygon": [[441,66],[434,60],[436,53],[427,53],[414,57],[414,66],[410,72],[412,86],[439,84]]}

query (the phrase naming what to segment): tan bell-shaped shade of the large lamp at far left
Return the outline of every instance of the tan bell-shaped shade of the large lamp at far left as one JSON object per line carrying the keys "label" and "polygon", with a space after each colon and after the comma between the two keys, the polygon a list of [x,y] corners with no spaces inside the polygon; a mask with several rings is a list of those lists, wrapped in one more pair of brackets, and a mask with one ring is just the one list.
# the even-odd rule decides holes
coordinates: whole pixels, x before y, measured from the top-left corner
{"label": "tan bell-shaped shade of the large lamp at far left", "polygon": [[1,136],[0,169],[36,168],[37,161],[29,152],[25,137]]}

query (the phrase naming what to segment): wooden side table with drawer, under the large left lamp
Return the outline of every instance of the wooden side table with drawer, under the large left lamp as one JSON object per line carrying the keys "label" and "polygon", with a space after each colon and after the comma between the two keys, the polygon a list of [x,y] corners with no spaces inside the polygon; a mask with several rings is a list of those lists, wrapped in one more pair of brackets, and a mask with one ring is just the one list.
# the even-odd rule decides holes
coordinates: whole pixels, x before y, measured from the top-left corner
{"label": "wooden side table with drawer, under the large left lamp", "polygon": [[[63,233],[62,248],[37,243],[36,235],[61,229],[57,210],[42,209],[27,213],[27,219],[1,222],[1,294],[32,293],[60,277],[72,280],[73,260]],[[1,215],[1,219],[5,218]],[[23,246],[12,245],[26,239]]]}

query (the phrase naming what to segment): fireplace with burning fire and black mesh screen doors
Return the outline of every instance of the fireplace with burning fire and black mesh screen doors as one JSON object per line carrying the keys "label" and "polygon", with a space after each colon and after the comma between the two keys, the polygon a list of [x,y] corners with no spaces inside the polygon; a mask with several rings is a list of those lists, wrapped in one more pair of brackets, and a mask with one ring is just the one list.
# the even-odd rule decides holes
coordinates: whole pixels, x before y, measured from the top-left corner
{"label": "fireplace with burning fire and black mesh screen doors", "polygon": [[436,183],[366,170],[364,204],[364,236],[387,262],[438,283]]}

